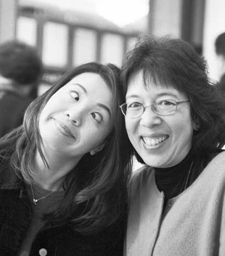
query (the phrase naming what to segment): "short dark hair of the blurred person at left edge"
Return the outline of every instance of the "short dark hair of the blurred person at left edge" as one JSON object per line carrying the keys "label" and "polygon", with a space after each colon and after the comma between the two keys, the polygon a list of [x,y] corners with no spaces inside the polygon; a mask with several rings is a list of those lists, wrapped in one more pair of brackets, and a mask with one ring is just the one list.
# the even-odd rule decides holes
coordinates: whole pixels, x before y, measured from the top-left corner
{"label": "short dark hair of the blurred person at left edge", "polygon": [[0,45],[0,74],[18,85],[35,83],[42,74],[41,58],[24,42],[4,42]]}

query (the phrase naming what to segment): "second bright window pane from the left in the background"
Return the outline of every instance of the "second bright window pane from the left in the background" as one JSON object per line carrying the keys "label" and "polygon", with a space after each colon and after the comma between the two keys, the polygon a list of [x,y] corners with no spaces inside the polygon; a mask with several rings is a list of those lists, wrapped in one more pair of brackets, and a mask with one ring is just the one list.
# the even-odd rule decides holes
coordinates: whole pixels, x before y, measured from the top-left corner
{"label": "second bright window pane from the left in the background", "polygon": [[47,66],[63,67],[67,63],[68,30],[63,24],[48,22],[43,30],[42,58]]}

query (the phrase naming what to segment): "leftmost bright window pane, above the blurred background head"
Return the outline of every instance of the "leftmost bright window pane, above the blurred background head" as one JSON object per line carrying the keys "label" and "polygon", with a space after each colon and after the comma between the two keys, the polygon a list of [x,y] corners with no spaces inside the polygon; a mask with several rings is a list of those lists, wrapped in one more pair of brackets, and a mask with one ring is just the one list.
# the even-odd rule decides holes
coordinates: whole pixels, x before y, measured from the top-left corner
{"label": "leftmost bright window pane, above the blurred background head", "polygon": [[19,17],[16,24],[16,39],[36,46],[37,23],[35,19]]}

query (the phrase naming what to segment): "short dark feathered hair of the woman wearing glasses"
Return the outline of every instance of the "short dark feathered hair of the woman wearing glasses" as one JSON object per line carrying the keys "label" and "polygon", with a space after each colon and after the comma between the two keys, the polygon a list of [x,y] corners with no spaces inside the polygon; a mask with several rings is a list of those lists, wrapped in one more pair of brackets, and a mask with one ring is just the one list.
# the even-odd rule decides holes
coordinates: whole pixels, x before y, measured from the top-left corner
{"label": "short dark feathered hair of the woman wearing glasses", "polygon": [[[207,77],[206,62],[189,43],[171,36],[142,36],[127,53],[122,66],[122,83],[127,91],[128,80],[143,70],[148,81],[172,86],[190,100],[192,118],[200,128],[193,135],[195,153],[215,151],[225,143],[225,103],[216,86]],[[138,160],[143,162],[136,154]]]}

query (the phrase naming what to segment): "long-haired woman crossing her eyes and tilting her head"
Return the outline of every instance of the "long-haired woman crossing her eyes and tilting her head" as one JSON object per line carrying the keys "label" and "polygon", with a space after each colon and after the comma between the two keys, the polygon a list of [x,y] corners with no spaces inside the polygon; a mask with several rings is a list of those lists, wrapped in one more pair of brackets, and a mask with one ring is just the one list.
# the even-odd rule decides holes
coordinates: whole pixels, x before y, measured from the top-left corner
{"label": "long-haired woman crossing her eyes and tilting her head", "polygon": [[1,139],[1,255],[122,255],[131,169],[119,75],[75,68]]}

